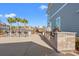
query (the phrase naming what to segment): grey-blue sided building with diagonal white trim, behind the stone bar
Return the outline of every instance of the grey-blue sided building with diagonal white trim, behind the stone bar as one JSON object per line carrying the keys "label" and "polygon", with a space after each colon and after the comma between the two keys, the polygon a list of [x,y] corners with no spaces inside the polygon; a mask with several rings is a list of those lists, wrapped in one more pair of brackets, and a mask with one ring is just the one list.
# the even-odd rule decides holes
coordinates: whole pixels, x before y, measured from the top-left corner
{"label": "grey-blue sided building with diagonal white trim, behind the stone bar", "polygon": [[79,35],[79,3],[49,3],[48,27]]}

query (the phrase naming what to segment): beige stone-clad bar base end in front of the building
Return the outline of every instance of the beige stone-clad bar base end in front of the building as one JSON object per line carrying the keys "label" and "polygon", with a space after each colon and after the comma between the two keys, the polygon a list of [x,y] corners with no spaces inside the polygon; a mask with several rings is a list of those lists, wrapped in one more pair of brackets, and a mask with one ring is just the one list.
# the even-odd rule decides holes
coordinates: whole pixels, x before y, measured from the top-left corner
{"label": "beige stone-clad bar base end in front of the building", "polygon": [[74,51],[75,50],[75,32],[57,32],[52,41],[57,51]]}

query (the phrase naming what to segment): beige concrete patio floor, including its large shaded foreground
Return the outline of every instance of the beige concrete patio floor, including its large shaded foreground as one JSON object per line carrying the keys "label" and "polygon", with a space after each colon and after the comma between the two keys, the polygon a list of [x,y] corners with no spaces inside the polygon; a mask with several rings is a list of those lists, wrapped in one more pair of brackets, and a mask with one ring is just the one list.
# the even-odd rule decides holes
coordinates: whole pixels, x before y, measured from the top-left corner
{"label": "beige concrete patio floor, including its large shaded foreground", "polygon": [[[55,51],[38,34],[28,37],[1,37],[2,56],[65,56]],[[71,55],[71,54],[70,54]]]}

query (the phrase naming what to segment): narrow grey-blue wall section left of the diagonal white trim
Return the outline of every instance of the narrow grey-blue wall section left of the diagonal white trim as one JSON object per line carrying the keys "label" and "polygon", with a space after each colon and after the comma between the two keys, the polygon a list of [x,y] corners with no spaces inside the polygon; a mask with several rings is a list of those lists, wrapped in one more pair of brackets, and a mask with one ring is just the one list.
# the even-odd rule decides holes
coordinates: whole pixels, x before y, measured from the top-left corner
{"label": "narrow grey-blue wall section left of the diagonal white trim", "polygon": [[[51,18],[52,14],[54,14],[61,6],[63,5],[60,3],[49,3],[48,4],[48,10],[47,10],[47,14],[48,14],[48,26],[51,27],[52,29],[52,23],[55,21],[53,18]],[[52,22],[51,22],[52,21]]]}

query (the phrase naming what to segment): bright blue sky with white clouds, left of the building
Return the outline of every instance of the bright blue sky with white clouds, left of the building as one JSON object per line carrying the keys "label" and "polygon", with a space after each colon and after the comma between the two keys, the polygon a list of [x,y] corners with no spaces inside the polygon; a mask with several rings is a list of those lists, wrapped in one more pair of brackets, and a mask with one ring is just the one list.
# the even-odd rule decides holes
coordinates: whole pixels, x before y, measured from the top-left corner
{"label": "bright blue sky with white clouds, left of the building", "polygon": [[46,3],[2,3],[0,4],[0,21],[7,23],[7,17],[20,17],[27,19],[30,26],[46,26],[46,9]]}

